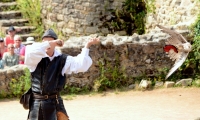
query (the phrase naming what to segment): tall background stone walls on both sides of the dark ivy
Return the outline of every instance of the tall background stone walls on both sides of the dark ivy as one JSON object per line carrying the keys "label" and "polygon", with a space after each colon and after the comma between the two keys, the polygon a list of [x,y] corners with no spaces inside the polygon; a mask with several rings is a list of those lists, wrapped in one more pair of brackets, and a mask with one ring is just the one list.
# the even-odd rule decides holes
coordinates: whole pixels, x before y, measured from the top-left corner
{"label": "tall background stone walls on both sides of the dark ivy", "polygon": [[[64,36],[107,35],[107,28],[101,28],[100,17],[109,10],[120,8],[125,0],[42,0],[42,19],[46,28],[54,27]],[[155,0],[155,13],[146,19],[147,33],[156,24],[187,30],[199,14],[198,0]]]}

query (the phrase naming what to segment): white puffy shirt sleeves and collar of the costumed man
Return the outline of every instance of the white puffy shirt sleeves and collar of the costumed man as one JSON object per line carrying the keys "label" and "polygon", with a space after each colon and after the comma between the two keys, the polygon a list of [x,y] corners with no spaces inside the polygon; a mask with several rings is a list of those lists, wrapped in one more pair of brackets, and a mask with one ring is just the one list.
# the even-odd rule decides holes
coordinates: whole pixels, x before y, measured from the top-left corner
{"label": "white puffy shirt sleeves and collar of the costumed man", "polygon": [[[49,57],[45,51],[49,47],[50,45],[48,41],[42,43],[34,43],[32,45],[26,46],[24,64],[27,65],[30,72],[35,71],[37,64],[41,61],[42,58]],[[59,56],[60,54],[61,53],[55,49],[54,55],[49,57],[50,61],[52,61],[54,57]],[[62,69],[62,75],[71,74],[72,72],[86,72],[91,65],[92,59],[89,56],[89,49],[82,48],[81,53],[77,56],[67,56],[65,65]]]}

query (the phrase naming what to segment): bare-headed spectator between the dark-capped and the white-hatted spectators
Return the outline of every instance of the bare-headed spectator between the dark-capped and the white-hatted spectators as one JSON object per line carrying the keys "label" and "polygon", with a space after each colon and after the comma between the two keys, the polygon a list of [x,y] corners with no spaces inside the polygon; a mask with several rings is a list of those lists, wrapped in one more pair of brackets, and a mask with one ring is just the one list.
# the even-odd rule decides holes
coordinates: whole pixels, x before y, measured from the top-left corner
{"label": "bare-headed spectator between the dark-capped and the white-hatted spectators", "polygon": [[15,47],[14,52],[17,55],[20,55],[20,50],[24,47],[24,45],[22,44],[22,39],[19,35],[15,35],[14,37],[14,47]]}

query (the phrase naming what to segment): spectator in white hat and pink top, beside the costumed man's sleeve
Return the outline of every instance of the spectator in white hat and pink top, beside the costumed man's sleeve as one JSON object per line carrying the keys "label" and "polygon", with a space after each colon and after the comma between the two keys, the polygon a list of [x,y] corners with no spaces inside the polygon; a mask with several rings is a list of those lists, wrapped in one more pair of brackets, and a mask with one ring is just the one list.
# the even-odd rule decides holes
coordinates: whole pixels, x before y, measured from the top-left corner
{"label": "spectator in white hat and pink top, beside the costumed man's sleeve", "polygon": [[24,64],[24,56],[25,56],[26,47],[27,47],[28,45],[33,44],[33,43],[35,43],[34,37],[28,37],[28,38],[26,39],[26,43],[25,43],[26,46],[24,46],[24,47],[20,50],[19,64]]}

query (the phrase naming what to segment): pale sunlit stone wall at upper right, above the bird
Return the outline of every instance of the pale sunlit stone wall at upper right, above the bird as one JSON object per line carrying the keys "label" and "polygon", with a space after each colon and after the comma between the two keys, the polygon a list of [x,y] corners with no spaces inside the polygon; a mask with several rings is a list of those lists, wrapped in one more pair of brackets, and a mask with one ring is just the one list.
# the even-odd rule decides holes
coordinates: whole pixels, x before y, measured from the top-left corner
{"label": "pale sunlit stone wall at upper right, above the bird", "polygon": [[155,7],[155,13],[149,14],[146,20],[147,32],[156,24],[188,30],[200,13],[198,0],[156,0]]}

